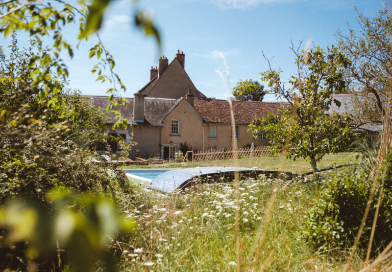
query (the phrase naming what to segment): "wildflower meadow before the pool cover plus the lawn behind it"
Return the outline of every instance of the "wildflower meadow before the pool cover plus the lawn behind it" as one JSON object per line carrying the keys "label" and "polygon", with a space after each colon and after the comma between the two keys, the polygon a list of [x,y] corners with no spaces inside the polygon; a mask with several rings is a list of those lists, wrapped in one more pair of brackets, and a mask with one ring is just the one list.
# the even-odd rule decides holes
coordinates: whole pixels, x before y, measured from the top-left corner
{"label": "wildflower meadow before the pool cover plus the lawn behind it", "polygon": [[[355,161],[353,153],[328,155],[320,167]],[[235,164],[228,160],[160,166],[211,165]],[[310,168],[308,162],[292,162],[282,156],[241,159],[238,165],[296,172]],[[238,189],[229,183],[202,184],[170,195],[140,187],[135,190],[125,213],[138,226],[127,237],[129,242],[118,244],[122,270],[338,271],[345,265],[347,249],[333,254],[317,251],[300,235],[314,197],[323,190],[321,184],[288,185],[261,178],[241,180]],[[388,262],[376,270],[392,264]],[[356,257],[350,270],[362,267]]]}

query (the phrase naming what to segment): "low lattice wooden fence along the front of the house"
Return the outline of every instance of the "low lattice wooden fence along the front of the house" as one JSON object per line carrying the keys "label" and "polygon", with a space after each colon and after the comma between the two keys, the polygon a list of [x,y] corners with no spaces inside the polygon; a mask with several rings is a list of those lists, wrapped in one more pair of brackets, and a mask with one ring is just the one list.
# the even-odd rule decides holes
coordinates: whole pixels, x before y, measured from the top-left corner
{"label": "low lattice wooden fence along the front of the house", "polygon": [[267,146],[258,146],[253,149],[251,148],[237,148],[237,149],[222,149],[216,151],[199,151],[193,152],[188,151],[185,154],[185,161],[215,161],[215,160],[229,160],[237,154],[238,158],[245,157],[261,157],[270,156],[272,154],[271,149]]}

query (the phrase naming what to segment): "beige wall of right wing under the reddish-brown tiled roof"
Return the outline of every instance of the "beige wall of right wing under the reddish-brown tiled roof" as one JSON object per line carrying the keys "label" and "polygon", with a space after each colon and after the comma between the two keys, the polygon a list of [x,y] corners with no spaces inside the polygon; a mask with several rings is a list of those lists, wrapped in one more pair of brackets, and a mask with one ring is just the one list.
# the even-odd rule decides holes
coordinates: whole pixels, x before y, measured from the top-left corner
{"label": "beige wall of right wing under the reddish-brown tiled roof", "polygon": [[[206,124],[204,127],[204,149],[208,150],[209,146],[216,146],[216,149],[233,148],[233,140],[231,140],[231,125],[218,124],[216,125],[216,138],[209,138],[209,126]],[[247,144],[252,144],[254,139],[252,133],[248,131],[247,125],[238,125],[239,127],[239,140],[237,140],[237,147],[242,148]],[[266,146],[267,141],[255,141],[256,146]]]}

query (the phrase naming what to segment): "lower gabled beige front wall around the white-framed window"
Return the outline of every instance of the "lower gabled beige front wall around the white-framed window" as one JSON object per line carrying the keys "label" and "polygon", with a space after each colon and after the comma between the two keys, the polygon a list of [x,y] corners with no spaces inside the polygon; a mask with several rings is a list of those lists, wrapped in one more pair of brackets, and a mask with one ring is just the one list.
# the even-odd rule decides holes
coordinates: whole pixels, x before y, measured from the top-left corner
{"label": "lower gabled beige front wall around the white-framed window", "polygon": [[[179,120],[179,135],[171,135],[171,120]],[[183,99],[163,119],[161,144],[178,148],[180,143],[187,142],[192,146],[192,149],[200,151],[203,149],[203,124],[198,112],[186,99]]]}

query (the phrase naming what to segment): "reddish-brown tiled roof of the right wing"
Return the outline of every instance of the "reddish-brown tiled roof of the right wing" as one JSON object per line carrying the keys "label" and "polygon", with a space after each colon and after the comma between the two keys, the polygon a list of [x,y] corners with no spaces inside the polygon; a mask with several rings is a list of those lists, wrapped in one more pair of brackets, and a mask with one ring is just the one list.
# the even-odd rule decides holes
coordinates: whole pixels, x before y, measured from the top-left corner
{"label": "reddish-brown tiled roof of the right wing", "polygon": [[[286,102],[248,102],[232,101],[234,120],[237,124],[249,124],[255,116],[267,117],[269,112],[277,114],[277,110],[287,107]],[[231,123],[230,106],[227,100],[194,99],[194,108],[199,111],[207,123]]]}

